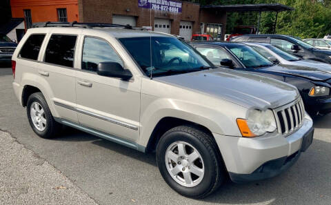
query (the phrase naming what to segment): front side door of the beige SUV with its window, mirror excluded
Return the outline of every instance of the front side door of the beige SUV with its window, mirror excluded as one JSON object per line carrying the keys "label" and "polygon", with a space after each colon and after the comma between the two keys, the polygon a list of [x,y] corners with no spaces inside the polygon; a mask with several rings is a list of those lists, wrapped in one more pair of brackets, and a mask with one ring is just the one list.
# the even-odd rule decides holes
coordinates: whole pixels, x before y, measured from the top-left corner
{"label": "front side door of the beige SUV with its window, mirror excluded", "polygon": [[79,123],[103,133],[137,141],[141,78],[129,81],[97,74],[100,62],[125,64],[105,39],[83,37],[81,70],[77,72],[76,95]]}

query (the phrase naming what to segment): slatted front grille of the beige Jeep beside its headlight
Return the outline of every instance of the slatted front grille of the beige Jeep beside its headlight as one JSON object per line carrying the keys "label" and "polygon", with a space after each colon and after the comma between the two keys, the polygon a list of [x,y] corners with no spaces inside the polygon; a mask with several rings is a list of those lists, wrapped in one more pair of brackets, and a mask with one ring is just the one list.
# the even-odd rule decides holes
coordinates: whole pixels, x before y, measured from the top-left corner
{"label": "slatted front grille of the beige Jeep beside its headlight", "polygon": [[276,117],[278,133],[288,135],[297,130],[302,124],[303,117],[305,117],[305,107],[301,97],[281,108],[274,110]]}

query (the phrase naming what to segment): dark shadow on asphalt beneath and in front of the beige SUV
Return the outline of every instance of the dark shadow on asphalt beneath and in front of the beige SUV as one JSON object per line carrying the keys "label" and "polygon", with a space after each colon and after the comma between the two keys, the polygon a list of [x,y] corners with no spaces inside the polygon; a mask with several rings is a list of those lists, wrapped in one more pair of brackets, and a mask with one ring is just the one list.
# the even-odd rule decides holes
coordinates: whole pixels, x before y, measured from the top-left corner
{"label": "dark shadow on asphalt beneath and in front of the beige SUV", "polygon": [[[325,121],[325,119],[323,120]],[[72,129],[71,132],[69,136],[66,135],[66,137],[56,140],[91,141],[92,144],[112,150],[119,155],[157,166],[155,154],[146,155],[78,130]],[[225,183],[214,194],[205,199],[188,200],[193,200],[192,204],[195,204],[194,202],[198,204],[201,202],[213,204],[327,204],[325,202],[331,199],[330,150],[330,143],[314,139],[312,146],[302,153],[299,161],[277,177],[246,184],[234,184],[225,177]],[[166,184],[159,186],[166,186]],[[175,198],[181,197],[177,193],[174,194]],[[307,198],[311,200],[307,201]]]}

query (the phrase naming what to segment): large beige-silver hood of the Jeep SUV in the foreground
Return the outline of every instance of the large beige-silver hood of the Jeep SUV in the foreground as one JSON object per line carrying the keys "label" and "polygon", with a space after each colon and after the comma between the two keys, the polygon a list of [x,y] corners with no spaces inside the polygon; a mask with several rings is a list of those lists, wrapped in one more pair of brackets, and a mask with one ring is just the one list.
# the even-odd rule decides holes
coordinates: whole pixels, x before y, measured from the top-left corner
{"label": "large beige-silver hood of the Jeep SUV in the foreground", "polygon": [[277,108],[299,97],[297,88],[282,81],[228,68],[154,79],[225,99],[245,108]]}

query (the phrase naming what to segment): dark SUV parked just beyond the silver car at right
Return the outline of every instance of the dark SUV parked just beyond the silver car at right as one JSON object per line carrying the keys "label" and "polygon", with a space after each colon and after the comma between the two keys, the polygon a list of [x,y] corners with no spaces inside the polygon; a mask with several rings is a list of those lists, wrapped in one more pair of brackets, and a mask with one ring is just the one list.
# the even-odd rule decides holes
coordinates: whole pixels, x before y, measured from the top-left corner
{"label": "dark SUV parked just beyond the silver car at right", "polygon": [[288,35],[242,35],[234,37],[230,41],[270,43],[303,59],[312,59],[331,64],[331,50],[320,50],[297,37]]}

